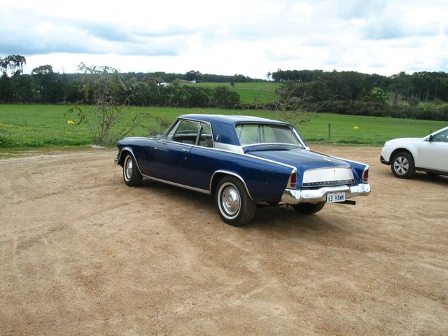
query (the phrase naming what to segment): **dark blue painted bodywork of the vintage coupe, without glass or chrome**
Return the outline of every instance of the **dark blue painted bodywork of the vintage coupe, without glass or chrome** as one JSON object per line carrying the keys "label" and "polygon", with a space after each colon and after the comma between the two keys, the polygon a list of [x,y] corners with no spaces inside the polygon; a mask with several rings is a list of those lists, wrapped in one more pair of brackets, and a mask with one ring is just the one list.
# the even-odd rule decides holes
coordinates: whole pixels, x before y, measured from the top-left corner
{"label": "dark blue painted bodywork of the vintage coupe, without glass or chrome", "polygon": [[[214,142],[239,146],[237,123],[276,123],[276,120],[246,116],[184,115],[179,118],[210,123]],[[216,141],[218,137],[218,141]],[[119,153],[127,148],[134,154],[141,173],[184,186],[209,190],[216,171],[240,176],[253,200],[280,202],[294,167],[297,186],[302,186],[307,169],[351,167],[356,183],[362,183],[366,165],[307,151],[300,146],[263,144],[245,147],[244,154],[205,148],[167,139],[126,138],[118,141]],[[123,165],[123,162],[120,162]]]}

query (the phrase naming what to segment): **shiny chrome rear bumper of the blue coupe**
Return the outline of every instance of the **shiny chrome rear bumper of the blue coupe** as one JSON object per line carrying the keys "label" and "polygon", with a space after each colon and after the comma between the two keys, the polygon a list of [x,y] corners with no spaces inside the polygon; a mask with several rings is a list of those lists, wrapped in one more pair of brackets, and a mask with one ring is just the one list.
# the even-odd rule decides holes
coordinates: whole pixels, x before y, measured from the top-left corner
{"label": "shiny chrome rear bumper of the blue coupe", "polygon": [[281,196],[281,202],[286,204],[314,203],[327,200],[328,193],[345,192],[345,198],[367,196],[370,194],[370,184],[360,183],[358,186],[335,186],[318,189],[285,189]]}

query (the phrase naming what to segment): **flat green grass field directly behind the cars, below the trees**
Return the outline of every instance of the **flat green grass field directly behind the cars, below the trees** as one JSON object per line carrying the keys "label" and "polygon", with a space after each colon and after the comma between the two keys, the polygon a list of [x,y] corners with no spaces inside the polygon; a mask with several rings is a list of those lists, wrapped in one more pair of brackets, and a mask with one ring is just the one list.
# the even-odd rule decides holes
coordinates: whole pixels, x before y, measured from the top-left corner
{"label": "flat green grass field directly behind the cars, below the trees", "polygon": [[[4,152],[7,151],[6,148],[17,150],[91,144],[89,127],[85,124],[69,125],[67,122],[76,120],[76,116],[66,116],[67,110],[68,107],[63,105],[0,105],[0,150]],[[128,111],[137,112],[160,116],[170,122],[185,113],[246,114],[272,118],[262,110],[133,107]],[[331,125],[330,139],[328,124]],[[154,118],[143,118],[132,135],[147,137],[150,135],[149,130],[155,125]],[[426,120],[313,113],[309,123],[297,125],[297,129],[309,142],[379,146],[384,141],[397,137],[423,137],[446,125],[446,122]],[[111,146],[115,146],[115,141]]]}

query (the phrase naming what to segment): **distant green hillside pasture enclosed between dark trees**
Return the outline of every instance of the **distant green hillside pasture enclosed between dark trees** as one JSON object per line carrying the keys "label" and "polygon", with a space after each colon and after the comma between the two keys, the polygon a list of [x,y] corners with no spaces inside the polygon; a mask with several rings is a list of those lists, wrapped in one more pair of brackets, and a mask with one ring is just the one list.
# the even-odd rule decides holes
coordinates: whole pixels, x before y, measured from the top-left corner
{"label": "distant green hillside pasture enclosed between dark trees", "polygon": [[184,83],[188,86],[199,87],[217,87],[227,86],[230,90],[234,90],[239,94],[241,104],[265,104],[269,101],[276,99],[275,90],[279,87],[280,83],[274,82],[247,82],[247,83],[235,83],[235,87],[232,87],[230,83]]}

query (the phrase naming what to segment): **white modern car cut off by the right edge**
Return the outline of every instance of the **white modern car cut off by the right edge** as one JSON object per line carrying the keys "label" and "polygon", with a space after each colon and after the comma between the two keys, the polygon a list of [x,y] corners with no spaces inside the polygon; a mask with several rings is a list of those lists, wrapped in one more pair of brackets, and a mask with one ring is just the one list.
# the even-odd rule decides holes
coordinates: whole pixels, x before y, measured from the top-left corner
{"label": "white modern car cut off by the right edge", "polygon": [[448,127],[423,138],[386,141],[379,157],[400,179],[409,179],[416,170],[430,175],[448,175]]}

